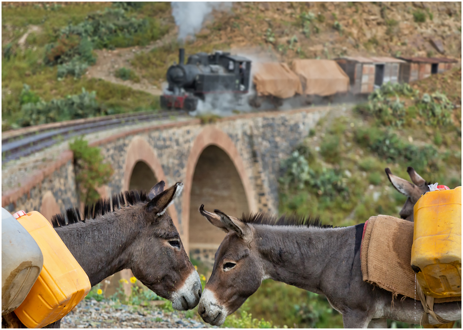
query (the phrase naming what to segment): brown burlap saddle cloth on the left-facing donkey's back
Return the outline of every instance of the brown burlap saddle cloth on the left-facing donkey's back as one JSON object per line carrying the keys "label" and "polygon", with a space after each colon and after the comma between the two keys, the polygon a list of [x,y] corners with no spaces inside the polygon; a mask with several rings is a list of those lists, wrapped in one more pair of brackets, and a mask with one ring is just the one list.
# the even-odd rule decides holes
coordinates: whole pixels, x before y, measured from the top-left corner
{"label": "brown burlap saddle cloth on the left-facing donkey's back", "polygon": [[[413,222],[390,215],[370,217],[360,252],[363,281],[394,295],[419,300],[412,266]],[[417,283],[418,284],[418,283]],[[434,303],[461,301],[462,297],[436,298]]]}

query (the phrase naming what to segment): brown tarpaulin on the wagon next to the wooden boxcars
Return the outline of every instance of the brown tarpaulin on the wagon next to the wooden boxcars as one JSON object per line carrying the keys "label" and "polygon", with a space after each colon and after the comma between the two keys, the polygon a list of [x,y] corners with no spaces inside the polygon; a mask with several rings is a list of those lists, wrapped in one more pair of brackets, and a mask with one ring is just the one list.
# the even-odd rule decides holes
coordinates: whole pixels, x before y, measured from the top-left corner
{"label": "brown tarpaulin on the wagon next to the wooden boxcars", "polygon": [[336,61],[294,60],[293,71],[307,95],[327,96],[349,91],[349,76]]}

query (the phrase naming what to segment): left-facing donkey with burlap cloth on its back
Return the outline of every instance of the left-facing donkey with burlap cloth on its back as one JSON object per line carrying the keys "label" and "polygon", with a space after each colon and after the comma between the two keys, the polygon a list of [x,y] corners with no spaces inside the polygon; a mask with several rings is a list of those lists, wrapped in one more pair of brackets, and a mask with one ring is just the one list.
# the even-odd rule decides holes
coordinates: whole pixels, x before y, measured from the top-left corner
{"label": "left-facing donkey with burlap cloth on its back", "polygon": [[[198,305],[204,321],[221,325],[225,317],[271,278],[324,294],[343,315],[344,328],[387,328],[387,319],[419,323],[423,307],[414,299],[363,281],[360,245],[363,224],[332,228],[319,220],[280,219],[267,214],[230,217],[219,210],[200,213],[228,234],[215,254],[212,275]],[[434,305],[447,320],[461,318],[461,302]],[[430,323],[436,321],[430,317]]]}

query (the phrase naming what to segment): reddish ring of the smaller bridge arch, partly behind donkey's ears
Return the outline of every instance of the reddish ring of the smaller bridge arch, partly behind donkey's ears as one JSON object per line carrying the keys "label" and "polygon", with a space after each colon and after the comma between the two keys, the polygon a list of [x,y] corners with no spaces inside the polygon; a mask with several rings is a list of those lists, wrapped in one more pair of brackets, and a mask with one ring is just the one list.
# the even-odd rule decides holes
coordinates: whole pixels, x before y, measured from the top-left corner
{"label": "reddish ring of the smaller bridge arch, partly behind donkey's ears", "polygon": [[[139,161],[143,161],[150,167],[151,171],[153,171],[156,180],[159,182],[163,180],[166,183],[166,188],[169,188],[169,182],[164,175],[163,167],[161,163],[157,159],[156,152],[153,147],[142,137],[136,136],[132,139],[127,148],[127,156],[125,157],[125,168],[124,168],[124,190],[129,190],[130,186],[130,178],[132,176],[133,168],[135,164]],[[174,222],[175,227],[177,230],[180,231],[179,223],[178,223],[178,215],[177,210],[175,209],[174,205],[169,206],[168,212],[172,221]]]}

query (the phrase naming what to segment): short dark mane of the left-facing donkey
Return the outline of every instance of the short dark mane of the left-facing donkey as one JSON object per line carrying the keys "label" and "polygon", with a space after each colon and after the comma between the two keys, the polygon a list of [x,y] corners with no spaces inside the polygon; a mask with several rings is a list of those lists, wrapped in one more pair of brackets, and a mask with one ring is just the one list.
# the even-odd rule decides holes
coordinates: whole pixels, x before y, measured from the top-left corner
{"label": "short dark mane of the left-facing donkey", "polygon": [[243,214],[240,219],[244,223],[255,225],[270,225],[270,226],[305,226],[305,227],[318,227],[318,228],[333,228],[332,225],[322,225],[320,217],[313,218],[311,215],[300,216],[297,214],[286,215],[283,214],[278,218],[276,214],[269,214],[266,212],[248,213]]}

